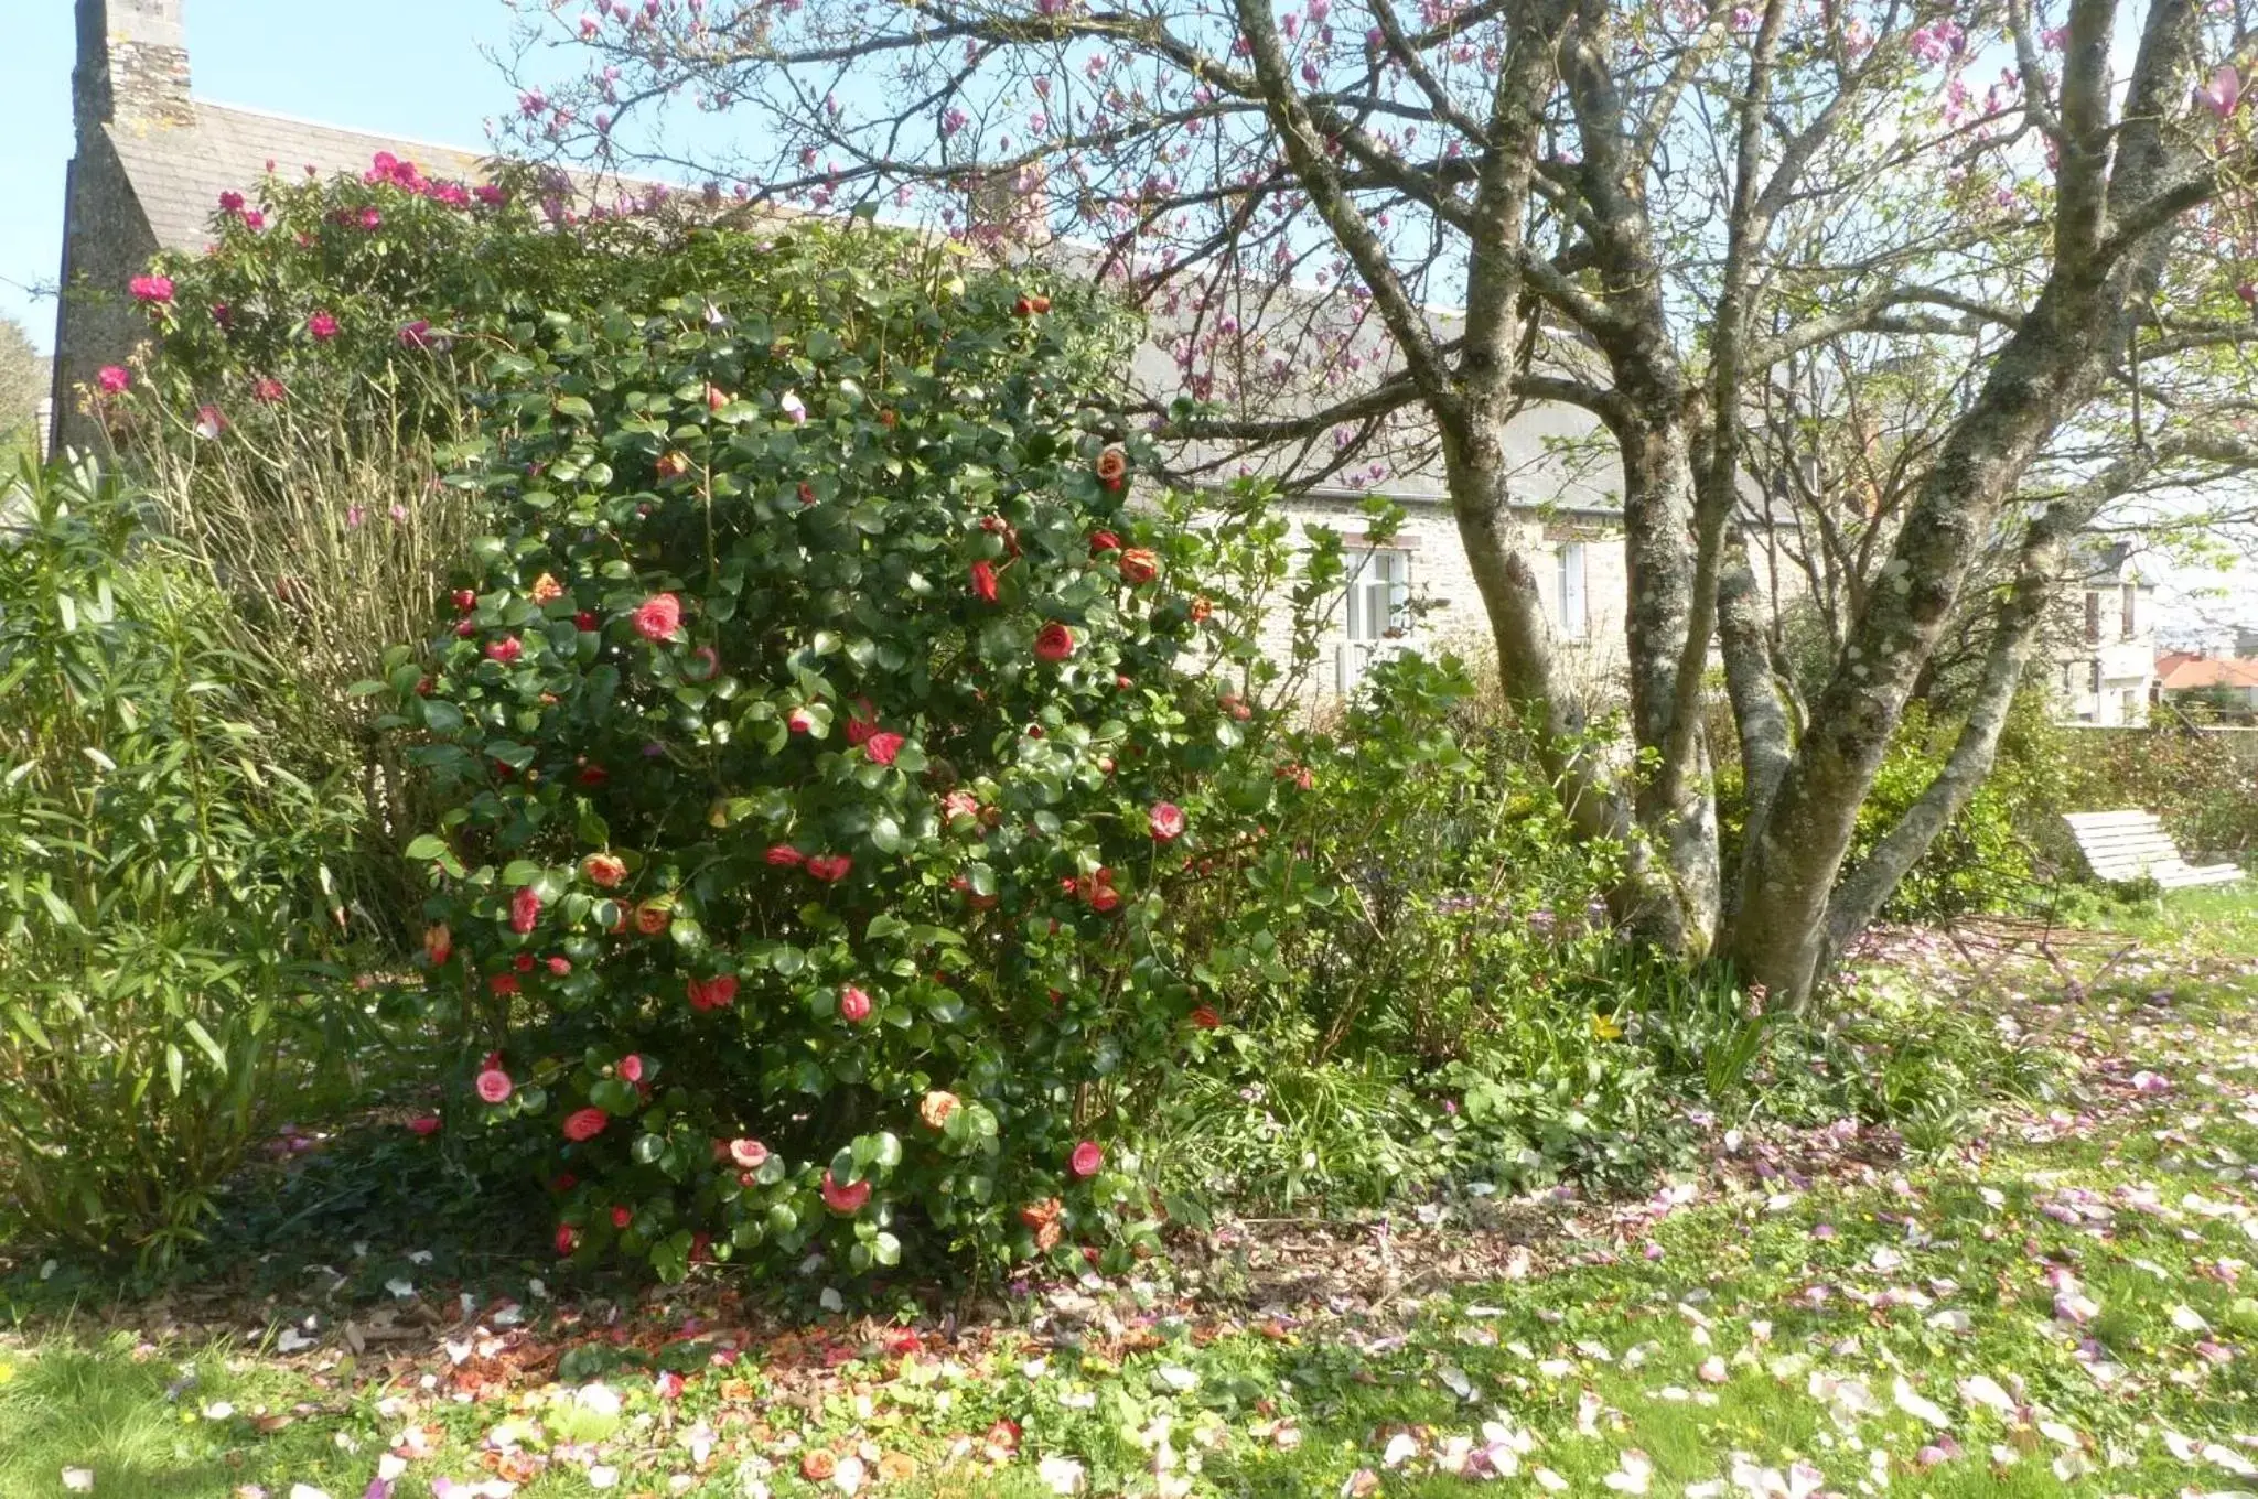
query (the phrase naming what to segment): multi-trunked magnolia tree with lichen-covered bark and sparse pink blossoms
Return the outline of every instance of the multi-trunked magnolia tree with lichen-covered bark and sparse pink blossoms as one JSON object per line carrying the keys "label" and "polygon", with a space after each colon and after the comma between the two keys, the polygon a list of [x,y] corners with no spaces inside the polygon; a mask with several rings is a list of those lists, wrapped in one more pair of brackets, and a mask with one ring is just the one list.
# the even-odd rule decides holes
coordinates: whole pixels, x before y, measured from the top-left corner
{"label": "multi-trunked magnolia tree with lichen-covered bark and sparse pink blossoms", "polygon": [[[528,7],[524,41],[540,149],[928,212],[1115,280],[1174,357],[1127,404],[1185,467],[1441,479],[1508,698],[1578,829],[1630,849],[1619,914],[1782,996],[1989,763],[1976,711],[1843,880],[1971,567],[2016,524],[2016,578],[2059,569],[2127,481],[2098,442],[2147,479],[2215,452],[2186,415],[2159,440],[2156,402],[2125,418],[2181,370],[2222,384],[2258,296],[2233,5],[614,0]],[[1849,336],[1949,339],[1967,393],[1795,718],[1734,526],[1743,436],[1784,361]],[[1544,499],[1506,440],[1531,402],[1590,411],[1619,456],[1624,765],[1581,750],[1513,521]],[[2055,499],[2010,508],[2034,476]],[[2037,614],[2001,614],[2003,666]],[[1732,871],[1712,639],[1750,786]]]}

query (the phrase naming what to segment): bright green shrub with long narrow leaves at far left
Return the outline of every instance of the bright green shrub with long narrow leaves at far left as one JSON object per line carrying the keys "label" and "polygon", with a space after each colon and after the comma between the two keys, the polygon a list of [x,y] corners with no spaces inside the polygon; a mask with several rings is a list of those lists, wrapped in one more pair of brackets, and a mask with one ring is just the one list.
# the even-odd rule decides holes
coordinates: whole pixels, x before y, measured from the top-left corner
{"label": "bright green shrub with long narrow leaves at far left", "polygon": [[0,1183],[36,1233],[165,1260],[341,1025],[352,808],[264,761],[228,601],[131,494],[27,467],[11,503]]}

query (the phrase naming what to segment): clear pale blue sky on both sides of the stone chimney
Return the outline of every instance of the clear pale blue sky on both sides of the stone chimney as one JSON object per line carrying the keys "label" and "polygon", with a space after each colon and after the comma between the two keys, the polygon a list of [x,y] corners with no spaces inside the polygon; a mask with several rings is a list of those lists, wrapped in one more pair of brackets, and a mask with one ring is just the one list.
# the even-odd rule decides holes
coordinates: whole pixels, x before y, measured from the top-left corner
{"label": "clear pale blue sky on both sides of the stone chimney", "polygon": [[[54,343],[70,163],[72,2],[9,5],[0,52],[0,316]],[[479,147],[515,95],[481,45],[501,45],[501,0],[187,0],[196,97],[325,124]]]}

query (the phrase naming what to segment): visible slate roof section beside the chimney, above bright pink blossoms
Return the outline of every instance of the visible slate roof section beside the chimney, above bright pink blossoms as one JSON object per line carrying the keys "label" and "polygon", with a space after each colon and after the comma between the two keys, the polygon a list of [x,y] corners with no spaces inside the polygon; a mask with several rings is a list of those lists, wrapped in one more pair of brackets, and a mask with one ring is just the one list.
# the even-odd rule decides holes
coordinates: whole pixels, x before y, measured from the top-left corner
{"label": "visible slate roof section beside the chimney, above bright pink blossoms", "polygon": [[104,126],[156,242],[167,251],[201,251],[210,244],[219,194],[242,192],[257,201],[266,163],[285,178],[303,176],[307,167],[330,176],[368,172],[377,151],[391,151],[413,160],[425,176],[485,181],[488,158],[427,140],[341,131],[205,99],[196,99],[194,115],[194,124]]}

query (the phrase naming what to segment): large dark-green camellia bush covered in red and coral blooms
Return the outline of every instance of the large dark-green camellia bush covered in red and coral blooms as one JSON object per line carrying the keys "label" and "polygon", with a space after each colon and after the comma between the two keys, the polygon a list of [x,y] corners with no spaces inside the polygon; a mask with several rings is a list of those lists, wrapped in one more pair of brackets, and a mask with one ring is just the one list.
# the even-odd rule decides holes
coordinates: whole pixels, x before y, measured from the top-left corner
{"label": "large dark-green camellia bush covered in red and coral blooms", "polygon": [[456,1111],[562,1255],[1120,1266],[1194,896],[1301,795],[1208,578],[1262,528],[1131,508],[1095,303],[867,230],[666,275],[488,334],[495,531],[382,684]]}

